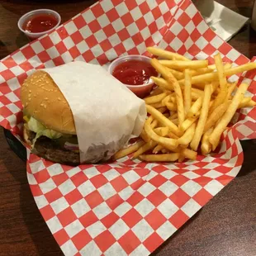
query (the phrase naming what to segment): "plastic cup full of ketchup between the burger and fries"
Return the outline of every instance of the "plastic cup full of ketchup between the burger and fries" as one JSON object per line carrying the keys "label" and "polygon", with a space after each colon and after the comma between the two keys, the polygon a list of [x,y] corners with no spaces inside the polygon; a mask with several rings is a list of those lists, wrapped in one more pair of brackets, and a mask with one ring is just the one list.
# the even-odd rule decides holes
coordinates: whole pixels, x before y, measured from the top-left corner
{"label": "plastic cup full of ketchup between the burger and fries", "polygon": [[147,96],[154,86],[150,77],[159,76],[151,66],[150,58],[142,55],[127,55],[115,59],[108,70],[138,97]]}

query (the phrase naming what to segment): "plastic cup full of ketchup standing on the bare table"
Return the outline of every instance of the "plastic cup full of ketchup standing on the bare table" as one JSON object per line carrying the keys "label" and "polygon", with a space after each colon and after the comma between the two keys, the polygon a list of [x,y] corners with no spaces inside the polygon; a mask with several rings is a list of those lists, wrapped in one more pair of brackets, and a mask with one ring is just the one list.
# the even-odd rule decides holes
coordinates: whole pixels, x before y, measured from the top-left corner
{"label": "plastic cup full of ketchup standing on the bare table", "polygon": [[50,9],[39,9],[23,15],[18,21],[18,27],[26,36],[34,40],[55,29],[59,23],[58,12]]}

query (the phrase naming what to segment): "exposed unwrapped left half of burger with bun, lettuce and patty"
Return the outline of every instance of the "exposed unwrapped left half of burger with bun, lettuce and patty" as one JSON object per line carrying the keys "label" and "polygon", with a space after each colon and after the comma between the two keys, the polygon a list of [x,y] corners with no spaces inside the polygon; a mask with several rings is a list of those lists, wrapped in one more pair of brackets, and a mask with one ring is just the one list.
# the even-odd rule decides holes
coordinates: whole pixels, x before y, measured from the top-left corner
{"label": "exposed unwrapped left half of burger with bun, lettuce and patty", "polygon": [[59,164],[80,164],[73,114],[48,73],[38,70],[21,86],[24,140],[31,152]]}

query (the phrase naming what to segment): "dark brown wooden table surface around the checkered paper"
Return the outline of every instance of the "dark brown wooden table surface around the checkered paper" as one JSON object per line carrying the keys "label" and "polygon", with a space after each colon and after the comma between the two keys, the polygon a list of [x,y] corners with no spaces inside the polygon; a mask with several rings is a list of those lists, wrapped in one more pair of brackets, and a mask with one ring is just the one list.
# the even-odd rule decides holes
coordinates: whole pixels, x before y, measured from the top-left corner
{"label": "dark brown wooden table surface around the checkered paper", "polygon": [[[27,43],[26,37],[17,29],[17,20],[22,14],[48,7],[59,12],[62,21],[67,21],[95,1],[69,2],[2,1],[0,59]],[[219,2],[250,17],[254,1]],[[249,58],[256,55],[256,33],[249,25],[244,26],[230,44]],[[2,130],[0,145],[0,255],[62,255],[31,196],[26,164],[8,147]],[[247,141],[243,148],[244,166],[238,177],[154,255],[256,255],[256,144]]]}

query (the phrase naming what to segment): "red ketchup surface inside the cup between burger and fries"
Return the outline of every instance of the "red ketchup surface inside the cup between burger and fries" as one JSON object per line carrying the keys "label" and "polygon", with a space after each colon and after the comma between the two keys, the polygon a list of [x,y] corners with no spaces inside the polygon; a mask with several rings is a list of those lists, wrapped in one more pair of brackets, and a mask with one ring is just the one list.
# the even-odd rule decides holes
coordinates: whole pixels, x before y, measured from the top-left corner
{"label": "red ketchup surface inside the cup between burger and fries", "polygon": [[114,69],[112,75],[121,81],[121,83],[129,85],[141,85],[149,83],[151,76],[157,76],[155,69],[145,61],[126,60]]}

